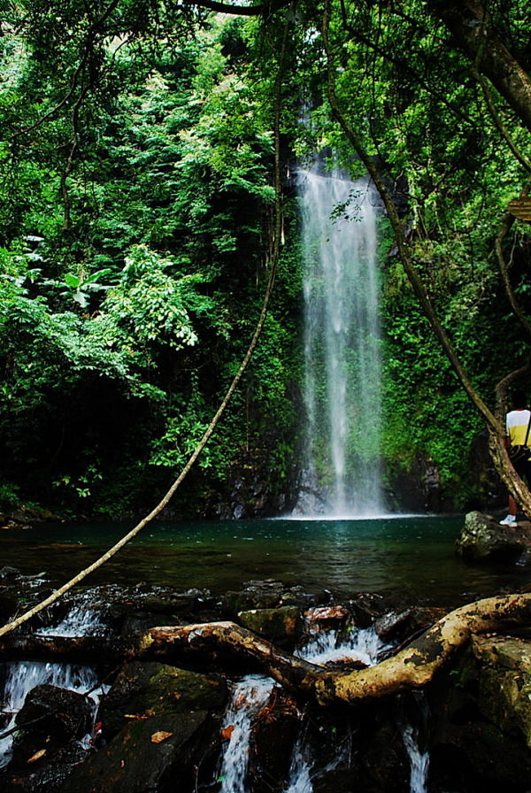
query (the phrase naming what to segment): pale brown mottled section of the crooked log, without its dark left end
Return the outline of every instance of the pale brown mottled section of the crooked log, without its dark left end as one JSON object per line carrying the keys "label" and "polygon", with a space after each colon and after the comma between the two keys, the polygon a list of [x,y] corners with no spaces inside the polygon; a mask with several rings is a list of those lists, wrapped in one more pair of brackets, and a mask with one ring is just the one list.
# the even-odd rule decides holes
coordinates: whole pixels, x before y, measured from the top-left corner
{"label": "pale brown mottled section of the crooked log, without its dark left end", "polygon": [[231,650],[259,661],[274,680],[291,691],[315,697],[319,704],[357,704],[367,699],[420,688],[431,681],[474,634],[525,624],[531,615],[531,594],[489,597],[450,612],[393,658],[366,669],[342,672],[316,666],[278,651],[232,622],[186,627],[152,628],[144,637],[142,655],[168,651]]}

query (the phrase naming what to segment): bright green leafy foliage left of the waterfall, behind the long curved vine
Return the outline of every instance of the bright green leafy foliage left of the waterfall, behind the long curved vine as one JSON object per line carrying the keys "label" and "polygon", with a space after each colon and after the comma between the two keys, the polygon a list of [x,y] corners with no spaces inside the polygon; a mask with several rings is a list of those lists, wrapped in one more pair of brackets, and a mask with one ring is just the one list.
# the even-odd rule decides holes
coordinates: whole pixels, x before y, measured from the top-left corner
{"label": "bright green leafy foliage left of the waterfall, behind the long curved vine", "polygon": [[[0,42],[3,458],[62,509],[127,512],[167,481],[258,318],[274,196],[256,24],[172,4],[161,35],[159,11],[31,0]],[[271,411],[292,376],[264,363]],[[221,486],[262,433],[236,407],[201,466]]]}

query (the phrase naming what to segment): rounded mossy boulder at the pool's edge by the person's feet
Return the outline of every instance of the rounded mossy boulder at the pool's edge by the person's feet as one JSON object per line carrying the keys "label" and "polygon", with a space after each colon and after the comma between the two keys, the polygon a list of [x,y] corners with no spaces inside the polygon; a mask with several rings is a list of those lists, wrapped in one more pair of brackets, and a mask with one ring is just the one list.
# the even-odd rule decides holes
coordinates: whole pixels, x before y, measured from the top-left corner
{"label": "rounded mossy boulder at the pool's edge by the person's feet", "polygon": [[468,512],[456,541],[458,554],[474,562],[531,564],[531,527],[500,526],[491,515]]}

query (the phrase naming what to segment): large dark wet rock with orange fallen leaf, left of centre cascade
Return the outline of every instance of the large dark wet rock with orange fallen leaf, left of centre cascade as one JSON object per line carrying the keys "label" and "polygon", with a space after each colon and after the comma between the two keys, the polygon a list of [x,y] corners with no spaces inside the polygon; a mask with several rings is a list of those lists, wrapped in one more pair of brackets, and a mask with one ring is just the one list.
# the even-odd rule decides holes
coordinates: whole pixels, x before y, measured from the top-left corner
{"label": "large dark wet rock with orange fallen leaf, left of centre cascade", "polygon": [[225,700],[217,675],[128,664],[101,709],[110,743],[75,768],[62,790],[146,793],[211,782]]}

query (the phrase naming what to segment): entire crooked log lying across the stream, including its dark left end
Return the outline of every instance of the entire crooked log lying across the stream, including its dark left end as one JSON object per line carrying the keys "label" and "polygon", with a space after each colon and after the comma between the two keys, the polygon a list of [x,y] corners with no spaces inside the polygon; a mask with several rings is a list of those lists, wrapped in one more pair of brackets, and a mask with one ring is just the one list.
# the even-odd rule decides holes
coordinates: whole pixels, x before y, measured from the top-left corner
{"label": "entire crooked log lying across the stream, including its dark left end", "polygon": [[182,662],[190,656],[227,656],[251,660],[286,689],[312,697],[319,704],[358,704],[365,700],[418,689],[433,680],[473,634],[508,630],[528,624],[531,593],[488,597],[461,606],[435,622],[396,656],[366,669],[343,672],[311,664],[282,652],[234,622],[208,622],[179,627],[153,627],[129,643],[110,643],[97,637],[65,639],[13,637],[0,644],[4,656],[27,650],[39,658],[76,658],[97,655],[100,661],[138,658]]}

